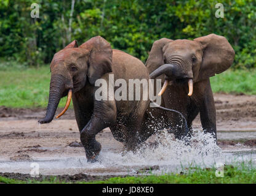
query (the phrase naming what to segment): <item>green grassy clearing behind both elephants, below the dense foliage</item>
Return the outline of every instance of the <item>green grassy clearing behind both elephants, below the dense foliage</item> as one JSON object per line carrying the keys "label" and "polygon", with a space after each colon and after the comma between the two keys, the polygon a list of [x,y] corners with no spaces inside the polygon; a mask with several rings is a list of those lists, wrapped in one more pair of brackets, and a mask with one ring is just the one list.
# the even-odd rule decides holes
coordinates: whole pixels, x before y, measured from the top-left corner
{"label": "green grassy clearing behind both elephants, below the dense foliage", "polygon": [[[256,69],[228,70],[210,80],[214,92],[256,94],[255,78]],[[49,66],[37,69],[14,62],[1,62],[0,105],[17,108],[47,107],[49,83]],[[60,107],[64,107],[65,100],[61,100]]]}

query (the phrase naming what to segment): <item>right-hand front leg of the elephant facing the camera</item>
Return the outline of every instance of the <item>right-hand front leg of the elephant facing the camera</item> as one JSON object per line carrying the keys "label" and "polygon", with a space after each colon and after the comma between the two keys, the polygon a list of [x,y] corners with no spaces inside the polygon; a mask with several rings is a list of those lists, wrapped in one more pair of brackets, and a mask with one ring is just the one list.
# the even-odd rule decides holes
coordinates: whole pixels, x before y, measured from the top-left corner
{"label": "right-hand front leg of the elephant facing the camera", "polygon": [[210,87],[209,80],[207,81],[206,91],[204,92],[200,105],[200,118],[204,132],[214,135],[217,142],[216,109],[214,104],[214,95],[212,94],[212,88]]}

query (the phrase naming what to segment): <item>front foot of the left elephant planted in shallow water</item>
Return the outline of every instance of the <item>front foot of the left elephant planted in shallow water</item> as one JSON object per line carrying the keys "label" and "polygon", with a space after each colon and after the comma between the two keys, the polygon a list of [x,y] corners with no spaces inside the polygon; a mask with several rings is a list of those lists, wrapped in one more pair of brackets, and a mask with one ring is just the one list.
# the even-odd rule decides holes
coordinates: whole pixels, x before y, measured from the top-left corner
{"label": "front foot of the left elephant planted in shallow water", "polygon": [[94,143],[90,143],[90,145],[86,145],[86,158],[87,162],[95,163],[98,162],[98,154],[102,149],[102,145],[98,141],[94,141]]}

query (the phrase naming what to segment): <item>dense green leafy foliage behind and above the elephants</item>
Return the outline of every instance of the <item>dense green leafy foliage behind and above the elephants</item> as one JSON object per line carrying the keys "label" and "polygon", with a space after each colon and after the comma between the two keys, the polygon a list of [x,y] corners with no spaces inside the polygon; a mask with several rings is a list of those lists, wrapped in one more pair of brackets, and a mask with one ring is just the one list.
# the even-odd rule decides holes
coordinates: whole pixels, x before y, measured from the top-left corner
{"label": "dense green leafy foliage behind and above the elephants", "polygon": [[[73,0],[74,1],[74,0]],[[39,18],[30,5],[39,4]],[[2,0],[0,57],[31,66],[49,63],[73,39],[79,44],[102,36],[113,48],[145,62],[154,40],[194,39],[215,33],[236,51],[233,67],[256,67],[256,1],[225,0],[224,18],[216,18],[217,0]]]}

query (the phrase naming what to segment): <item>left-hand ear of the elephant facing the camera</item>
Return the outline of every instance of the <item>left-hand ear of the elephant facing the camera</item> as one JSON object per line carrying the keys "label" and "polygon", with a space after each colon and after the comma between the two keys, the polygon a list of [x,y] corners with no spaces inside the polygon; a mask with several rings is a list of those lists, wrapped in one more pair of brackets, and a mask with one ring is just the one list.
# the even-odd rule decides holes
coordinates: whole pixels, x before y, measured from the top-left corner
{"label": "left-hand ear of the elephant facing the camera", "polygon": [[154,70],[158,69],[159,66],[164,64],[164,53],[163,48],[166,43],[172,42],[171,39],[162,38],[156,40],[151,48],[150,55],[146,60],[146,67],[148,68],[148,72],[151,74]]}

